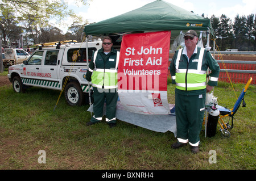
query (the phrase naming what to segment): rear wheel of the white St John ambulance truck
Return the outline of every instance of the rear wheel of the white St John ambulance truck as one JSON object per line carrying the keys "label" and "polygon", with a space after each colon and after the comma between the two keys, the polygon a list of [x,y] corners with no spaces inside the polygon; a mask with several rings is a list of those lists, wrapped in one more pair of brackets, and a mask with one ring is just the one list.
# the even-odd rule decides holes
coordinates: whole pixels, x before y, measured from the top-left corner
{"label": "rear wheel of the white St John ambulance truck", "polygon": [[84,94],[81,86],[77,82],[69,82],[65,87],[65,98],[71,106],[82,106],[84,103]]}

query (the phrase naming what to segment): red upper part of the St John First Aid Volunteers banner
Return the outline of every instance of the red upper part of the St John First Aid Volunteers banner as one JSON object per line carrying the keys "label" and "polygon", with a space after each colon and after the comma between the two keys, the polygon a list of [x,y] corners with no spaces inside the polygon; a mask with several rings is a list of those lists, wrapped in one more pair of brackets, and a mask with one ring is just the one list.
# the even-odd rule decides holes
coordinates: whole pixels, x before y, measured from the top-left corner
{"label": "red upper part of the St John First Aid Volunteers banner", "polygon": [[170,31],[123,36],[119,90],[167,90],[170,36]]}

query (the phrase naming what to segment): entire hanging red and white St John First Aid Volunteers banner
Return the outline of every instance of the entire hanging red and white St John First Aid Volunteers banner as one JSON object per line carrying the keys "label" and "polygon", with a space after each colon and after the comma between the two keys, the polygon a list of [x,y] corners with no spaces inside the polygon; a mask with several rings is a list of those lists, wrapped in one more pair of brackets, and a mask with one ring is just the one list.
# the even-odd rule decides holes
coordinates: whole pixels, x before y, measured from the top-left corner
{"label": "entire hanging red and white St John First Aid Volunteers banner", "polygon": [[126,110],[168,114],[167,75],[171,31],[124,35],[118,64],[118,94]]}

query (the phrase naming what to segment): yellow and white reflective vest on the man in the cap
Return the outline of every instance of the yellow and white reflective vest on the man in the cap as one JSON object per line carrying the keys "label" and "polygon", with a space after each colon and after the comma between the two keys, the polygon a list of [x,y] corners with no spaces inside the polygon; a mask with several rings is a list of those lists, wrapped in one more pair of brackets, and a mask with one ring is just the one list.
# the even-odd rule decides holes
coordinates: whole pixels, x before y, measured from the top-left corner
{"label": "yellow and white reflective vest on the man in the cap", "polygon": [[[181,58],[181,52],[183,49],[179,49],[176,60],[176,74],[175,82],[176,88],[179,90],[200,90],[206,88],[207,71],[201,70],[204,48],[200,49],[199,59],[197,62],[197,69],[179,69],[179,63]],[[195,60],[193,60],[195,61]]]}

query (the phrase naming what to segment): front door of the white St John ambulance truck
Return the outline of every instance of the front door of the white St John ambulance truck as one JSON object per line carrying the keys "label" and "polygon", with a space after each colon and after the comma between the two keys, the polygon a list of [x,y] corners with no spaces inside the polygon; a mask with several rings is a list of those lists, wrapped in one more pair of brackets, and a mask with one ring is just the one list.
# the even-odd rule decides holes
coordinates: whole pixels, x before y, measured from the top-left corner
{"label": "front door of the white St John ambulance truck", "polygon": [[25,85],[39,86],[43,53],[44,51],[35,52],[23,65],[22,82]]}

